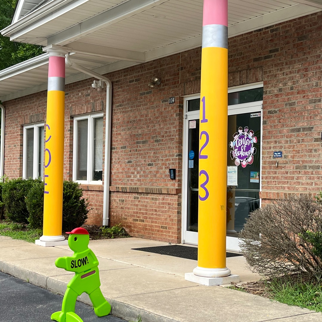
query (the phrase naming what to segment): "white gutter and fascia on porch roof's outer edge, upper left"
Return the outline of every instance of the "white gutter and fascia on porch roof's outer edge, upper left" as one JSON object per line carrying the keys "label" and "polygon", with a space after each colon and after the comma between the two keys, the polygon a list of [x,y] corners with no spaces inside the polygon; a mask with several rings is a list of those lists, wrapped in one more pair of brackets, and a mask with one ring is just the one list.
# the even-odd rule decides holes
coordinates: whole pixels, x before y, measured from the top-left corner
{"label": "white gutter and fascia on porch roof's outer edge, upper left", "polygon": [[19,36],[23,36],[25,33],[40,27],[87,1],[89,0],[53,0],[35,11],[24,15],[21,19],[2,29],[0,33],[3,36],[10,36],[10,40],[15,40]]}

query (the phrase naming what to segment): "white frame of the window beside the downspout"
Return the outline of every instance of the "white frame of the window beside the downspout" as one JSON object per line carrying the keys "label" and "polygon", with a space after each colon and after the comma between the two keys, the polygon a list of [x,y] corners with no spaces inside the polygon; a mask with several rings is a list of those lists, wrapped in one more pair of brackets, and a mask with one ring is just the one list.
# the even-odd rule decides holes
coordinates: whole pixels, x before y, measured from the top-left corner
{"label": "white frame of the window beside the downspout", "polygon": [[[94,119],[104,117],[103,113],[86,114],[74,117],[73,123],[73,181],[83,185],[102,185],[103,180],[92,180],[93,174],[93,153],[94,153]],[[87,127],[87,180],[76,180],[76,162],[77,162],[77,121],[88,120]],[[103,153],[104,156],[104,153]]]}

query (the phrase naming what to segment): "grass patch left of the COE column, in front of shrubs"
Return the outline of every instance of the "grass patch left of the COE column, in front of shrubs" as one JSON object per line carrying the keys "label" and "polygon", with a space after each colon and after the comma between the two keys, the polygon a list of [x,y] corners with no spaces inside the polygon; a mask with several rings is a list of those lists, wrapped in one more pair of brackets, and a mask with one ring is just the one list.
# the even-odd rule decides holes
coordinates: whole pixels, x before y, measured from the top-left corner
{"label": "grass patch left of the COE column, in front of shrubs", "polygon": [[10,221],[0,222],[0,235],[9,236],[14,239],[24,240],[34,243],[36,239],[42,236],[42,229],[31,229],[24,224],[13,223]]}

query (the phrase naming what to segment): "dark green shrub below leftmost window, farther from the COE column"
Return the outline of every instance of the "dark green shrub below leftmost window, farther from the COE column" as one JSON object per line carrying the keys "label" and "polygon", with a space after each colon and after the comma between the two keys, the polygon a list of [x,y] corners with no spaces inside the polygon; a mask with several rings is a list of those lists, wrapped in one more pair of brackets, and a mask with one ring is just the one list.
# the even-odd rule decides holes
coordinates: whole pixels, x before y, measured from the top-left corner
{"label": "dark green shrub below leftmost window, farther from the COE column", "polygon": [[4,183],[2,198],[5,204],[5,215],[17,223],[28,223],[29,212],[26,207],[25,197],[34,182],[40,179],[12,179]]}

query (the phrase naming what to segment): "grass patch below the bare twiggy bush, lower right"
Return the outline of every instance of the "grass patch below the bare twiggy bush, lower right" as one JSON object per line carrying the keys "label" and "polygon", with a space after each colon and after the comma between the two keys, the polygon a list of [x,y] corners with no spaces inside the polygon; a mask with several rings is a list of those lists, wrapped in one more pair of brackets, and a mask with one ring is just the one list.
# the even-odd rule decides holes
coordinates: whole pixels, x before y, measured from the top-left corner
{"label": "grass patch below the bare twiggy bush, lower right", "polygon": [[275,278],[265,282],[270,298],[288,305],[322,311],[322,285],[301,279]]}

